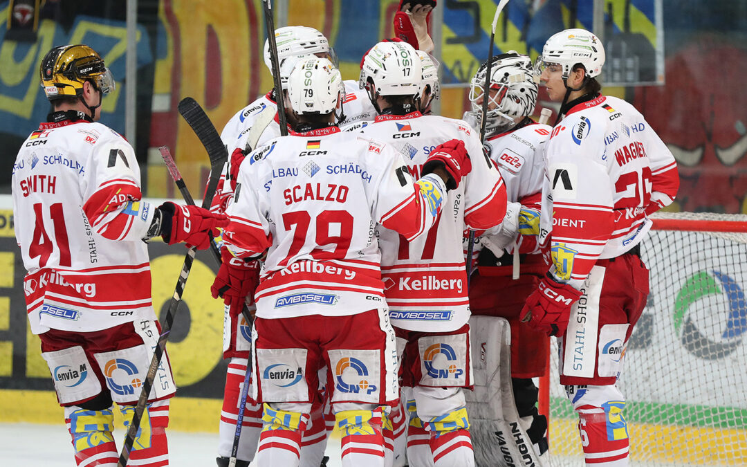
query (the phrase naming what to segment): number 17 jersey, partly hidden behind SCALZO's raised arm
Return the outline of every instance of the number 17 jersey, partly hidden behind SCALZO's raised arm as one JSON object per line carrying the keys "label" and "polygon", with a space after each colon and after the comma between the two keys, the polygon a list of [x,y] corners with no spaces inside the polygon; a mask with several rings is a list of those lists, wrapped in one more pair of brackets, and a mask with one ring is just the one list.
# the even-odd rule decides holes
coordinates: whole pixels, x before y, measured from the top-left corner
{"label": "number 17 jersey, partly hidden behind SCALZO's raised arm", "polygon": [[489,229],[506,214],[506,187],[483,146],[463,120],[412,112],[380,115],[360,134],[382,140],[403,156],[407,170],[420,176],[430,152],[452,139],[464,140],[472,171],[449,191],[436,226],[407,241],[388,226],[379,227],[382,276],[389,318],[406,330],[456,330],[469,319],[462,232]]}

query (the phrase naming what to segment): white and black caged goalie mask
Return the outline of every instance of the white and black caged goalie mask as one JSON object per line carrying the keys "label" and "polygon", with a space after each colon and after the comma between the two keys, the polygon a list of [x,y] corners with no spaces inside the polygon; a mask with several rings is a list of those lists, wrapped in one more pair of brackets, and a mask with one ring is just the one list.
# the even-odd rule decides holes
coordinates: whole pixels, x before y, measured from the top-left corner
{"label": "white and black caged goalie mask", "polygon": [[[470,82],[472,116],[480,125],[488,62],[480,65]],[[510,51],[492,58],[486,135],[505,132],[515,125],[515,117],[527,117],[537,102],[537,83],[532,61],[527,55]]]}

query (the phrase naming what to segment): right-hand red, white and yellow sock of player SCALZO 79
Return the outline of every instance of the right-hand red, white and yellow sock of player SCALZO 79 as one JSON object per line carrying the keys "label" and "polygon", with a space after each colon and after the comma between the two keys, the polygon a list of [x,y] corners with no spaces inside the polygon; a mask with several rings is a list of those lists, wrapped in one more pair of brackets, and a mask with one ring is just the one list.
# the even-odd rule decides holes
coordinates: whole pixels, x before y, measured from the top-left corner
{"label": "right-hand red, white and yellow sock of player SCALZO 79", "polygon": [[343,467],[383,467],[382,408],[335,413],[342,435]]}

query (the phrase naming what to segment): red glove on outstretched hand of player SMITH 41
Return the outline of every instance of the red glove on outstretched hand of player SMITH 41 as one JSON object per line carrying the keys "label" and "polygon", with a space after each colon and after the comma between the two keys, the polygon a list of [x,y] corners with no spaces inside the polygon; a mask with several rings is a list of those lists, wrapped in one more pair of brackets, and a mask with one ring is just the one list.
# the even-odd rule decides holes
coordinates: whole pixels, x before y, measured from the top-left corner
{"label": "red glove on outstretched hand of player SMITH 41", "polygon": [[177,205],[167,201],[158,206],[158,209],[163,213],[161,237],[170,245],[183,241],[187,247],[205,250],[210,247],[208,232],[213,236],[219,235],[217,228],[229,223],[226,214],[217,214],[197,206]]}

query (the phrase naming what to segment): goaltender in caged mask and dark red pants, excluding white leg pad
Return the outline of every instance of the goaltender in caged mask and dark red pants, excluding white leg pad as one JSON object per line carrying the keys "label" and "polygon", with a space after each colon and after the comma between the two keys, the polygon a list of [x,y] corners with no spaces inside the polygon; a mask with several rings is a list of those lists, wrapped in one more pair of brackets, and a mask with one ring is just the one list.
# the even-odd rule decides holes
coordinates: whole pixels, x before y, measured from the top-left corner
{"label": "goaltender in caged mask and dark red pants, excluding white leg pad", "polygon": [[[496,55],[492,61],[485,148],[506,183],[509,205],[503,223],[475,241],[477,270],[471,277],[469,299],[473,315],[508,320],[515,407],[503,407],[503,421],[513,421],[509,414],[518,411],[522,427],[539,455],[548,449],[545,438],[548,424],[547,418],[537,412],[538,389],[531,378],[545,374],[550,341],[545,333],[521,323],[518,315],[524,300],[536,289],[547,269],[537,247],[539,229],[532,227],[539,227],[545,180],[544,146],[552,128],[536,124],[529,117],[537,99],[530,58],[511,51]],[[487,62],[477,70],[470,86],[473,110],[465,114],[465,120],[474,121],[475,128],[480,128],[482,120],[486,70]],[[520,259],[521,273],[514,278],[515,254]],[[486,345],[498,344],[496,336],[486,339]],[[494,374],[495,368],[486,371]],[[495,415],[480,415],[495,419],[490,418]]]}

